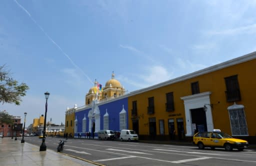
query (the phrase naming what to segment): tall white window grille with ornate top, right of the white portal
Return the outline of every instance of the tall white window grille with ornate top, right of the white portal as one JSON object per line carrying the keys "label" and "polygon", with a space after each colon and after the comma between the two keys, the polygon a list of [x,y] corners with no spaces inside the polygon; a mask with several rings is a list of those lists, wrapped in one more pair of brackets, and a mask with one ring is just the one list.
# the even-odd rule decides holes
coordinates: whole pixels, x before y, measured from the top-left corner
{"label": "tall white window grille with ornate top, right of the white portal", "polygon": [[244,107],[228,109],[231,132],[234,136],[248,135]]}

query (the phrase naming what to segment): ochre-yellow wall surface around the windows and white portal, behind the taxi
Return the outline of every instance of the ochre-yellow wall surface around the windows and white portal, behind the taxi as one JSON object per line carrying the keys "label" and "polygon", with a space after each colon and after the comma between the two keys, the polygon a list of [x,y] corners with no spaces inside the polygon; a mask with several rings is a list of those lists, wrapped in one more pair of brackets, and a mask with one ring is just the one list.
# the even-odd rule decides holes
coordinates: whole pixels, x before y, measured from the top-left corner
{"label": "ochre-yellow wall surface around the windows and white portal, behind the taxi", "polygon": [[[184,103],[180,99],[182,96],[191,95],[191,83],[198,81],[199,91],[210,91],[210,102],[213,104],[212,119],[214,128],[219,128],[224,132],[231,134],[230,120],[228,116],[227,107],[232,105],[233,102],[227,102],[225,91],[224,77],[238,75],[238,83],[240,88],[241,100],[236,104],[244,105],[244,111],[246,116],[246,122],[249,135],[256,135],[256,107],[253,101],[255,100],[256,93],[256,59],[246,61],[243,63],[235,64],[226,68],[222,68],[210,73],[199,75],[193,78],[182,80],[180,82],[172,83],[159,87],[157,89],[148,90],[139,94],[135,94],[128,97],[128,110],[132,109],[132,101],[137,101],[137,114],[139,118],[139,134],[148,135],[149,126],[148,118],[156,118],[156,134],[159,134],[159,119],[164,119],[164,131],[168,134],[168,118],[174,118],[175,130],[176,118],[182,117],[184,121],[184,129],[186,129],[186,119],[184,114]],[[173,92],[174,97],[174,111],[166,112],[165,93]],[[154,97],[154,113],[147,114],[148,97]],[[219,103],[217,104],[217,102]],[[176,116],[169,116],[171,114],[179,114]],[[143,114],[143,117],[141,116]],[[132,128],[131,111],[128,114],[128,128]]]}

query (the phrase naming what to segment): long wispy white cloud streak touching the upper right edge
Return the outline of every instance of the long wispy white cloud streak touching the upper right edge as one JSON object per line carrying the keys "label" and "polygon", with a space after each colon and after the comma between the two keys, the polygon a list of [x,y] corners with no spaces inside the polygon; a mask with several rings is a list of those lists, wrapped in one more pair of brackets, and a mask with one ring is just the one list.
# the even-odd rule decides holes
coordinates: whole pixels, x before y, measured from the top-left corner
{"label": "long wispy white cloud streak touching the upper right edge", "polygon": [[215,30],[215,31],[209,31],[207,32],[209,35],[234,35],[234,34],[239,34],[239,33],[256,33],[256,23],[250,24],[250,25],[245,25],[245,26],[240,26],[240,27],[235,27],[235,28],[229,28],[225,30]]}

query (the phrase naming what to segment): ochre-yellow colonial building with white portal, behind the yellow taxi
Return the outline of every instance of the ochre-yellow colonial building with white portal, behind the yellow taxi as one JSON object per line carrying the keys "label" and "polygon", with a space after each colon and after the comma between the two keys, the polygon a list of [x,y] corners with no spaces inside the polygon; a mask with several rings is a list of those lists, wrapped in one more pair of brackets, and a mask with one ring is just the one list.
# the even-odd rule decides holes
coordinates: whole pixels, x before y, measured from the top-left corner
{"label": "ochre-yellow colonial building with white portal, behind the yellow taxi", "polygon": [[255,142],[256,52],[129,93],[141,139],[187,139],[219,128]]}

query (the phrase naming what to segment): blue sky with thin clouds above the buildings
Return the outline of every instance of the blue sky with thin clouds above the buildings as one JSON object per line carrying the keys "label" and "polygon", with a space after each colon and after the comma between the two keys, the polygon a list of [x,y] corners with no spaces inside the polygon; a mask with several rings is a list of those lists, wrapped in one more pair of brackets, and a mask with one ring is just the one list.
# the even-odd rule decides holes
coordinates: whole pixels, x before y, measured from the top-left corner
{"label": "blue sky with thin clouds above the buildings", "polygon": [[127,92],[256,50],[256,0],[0,0],[0,65],[29,86],[0,104],[64,123],[95,79]]}

